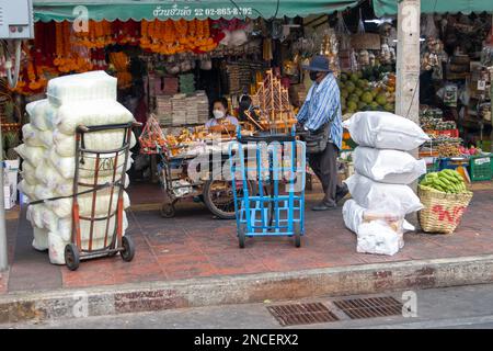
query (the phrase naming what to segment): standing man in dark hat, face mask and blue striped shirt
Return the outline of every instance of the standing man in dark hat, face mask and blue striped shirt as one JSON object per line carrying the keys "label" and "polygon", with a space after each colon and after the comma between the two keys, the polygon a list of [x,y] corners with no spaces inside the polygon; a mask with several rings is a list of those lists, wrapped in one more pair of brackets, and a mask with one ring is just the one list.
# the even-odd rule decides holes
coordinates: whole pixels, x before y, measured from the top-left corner
{"label": "standing man in dark hat, face mask and blue striped shirt", "polygon": [[303,68],[310,71],[313,86],[297,115],[298,123],[309,132],[330,128],[325,149],[308,155],[309,165],[320,179],[324,192],[322,202],[312,210],[334,210],[337,207],[337,202],[348,192],[345,184],[339,184],[337,178],[337,156],[342,148],[343,134],[341,95],[325,56],[313,57],[310,66]]}

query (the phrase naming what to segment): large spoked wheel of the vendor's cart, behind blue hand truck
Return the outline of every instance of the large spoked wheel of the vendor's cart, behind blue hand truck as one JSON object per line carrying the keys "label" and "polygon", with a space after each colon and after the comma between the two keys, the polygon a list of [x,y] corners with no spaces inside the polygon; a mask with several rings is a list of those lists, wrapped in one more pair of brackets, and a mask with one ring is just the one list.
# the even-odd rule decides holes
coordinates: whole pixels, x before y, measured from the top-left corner
{"label": "large spoked wheel of the vendor's cart, behind blue hand truck", "polygon": [[[251,189],[251,184],[249,184]],[[209,180],[204,184],[204,203],[207,208],[221,219],[234,219],[234,195],[230,181]],[[241,193],[239,199],[241,197]]]}

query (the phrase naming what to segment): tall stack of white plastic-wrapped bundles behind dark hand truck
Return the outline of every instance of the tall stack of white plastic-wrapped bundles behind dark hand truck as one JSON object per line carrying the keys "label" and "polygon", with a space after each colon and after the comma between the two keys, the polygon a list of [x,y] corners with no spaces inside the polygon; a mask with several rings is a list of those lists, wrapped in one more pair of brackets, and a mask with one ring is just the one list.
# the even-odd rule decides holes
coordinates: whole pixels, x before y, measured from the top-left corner
{"label": "tall stack of white plastic-wrapped bundles behind dark hand truck", "polygon": [[[92,71],[53,79],[48,82],[47,99],[27,104],[28,124],[22,128],[24,144],[16,148],[23,159],[22,181],[20,189],[28,202],[47,200],[73,194],[73,179],[76,162],[76,128],[78,125],[96,126],[119,124],[134,121],[131,113],[116,101],[116,78],[104,71]],[[122,147],[123,129],[89,133],[84,136],[85,148],[92,150],[111,150]],[[133,135],[131,145],[136,143]],[[114,154],[104,155],[112,160]],[[118,158],[117,177],[122,168],[131,166],[123,157]],[[95,159],[84,157],[79,173],[79,181],[93,184]],[[102,161],[104,163],[104,161]],[[81,162],[82,165],[82,162]],[[112,181],[113,167],[100,167],[98,183]],[[124,180],[128,185],[128,177]],[[79,186],[78,193],[89,190]],[[112,212],[118,200],[118,188],[105,188],[96,192],[95,217],[108,214],[110,201]],[[93,193],[78,196],[80,216],[91,217]],[[112,199],[112,200],[111,200]],[[124,207],[129,206],[129,200],[124,192]],[[65,263],[65,246],[71,241],[72,230],[72,197],[56,201],[45,201],[27,207],[27,219],[34,231],[33,247],[37,250],[49,251],[51,263]],[[115,227],[115,217],[110,220],[110,235]],[[80,220],[82,248],[88,248],[90,222]],[[124,229],[127,218],[124,214]],[[94,225],[92,249],[104,246],[106,220],[99,220]],[[111,240],[111,239],[110,239]]]}

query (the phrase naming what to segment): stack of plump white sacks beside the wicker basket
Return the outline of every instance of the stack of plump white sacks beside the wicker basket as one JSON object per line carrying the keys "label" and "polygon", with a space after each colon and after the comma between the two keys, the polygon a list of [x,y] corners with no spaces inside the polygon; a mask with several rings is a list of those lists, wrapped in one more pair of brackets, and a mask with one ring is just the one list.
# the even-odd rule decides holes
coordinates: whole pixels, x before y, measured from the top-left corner
{"label": "stack of plump white sacks beside the wicker basket", "polygon": [[358,112],[344,127],[359,145],[355,174],[345,181],[353,197],[343,207],[345,225],[357,235],[358,252],[392,256],[404,246],[403,233],[414,230],[405,215],[423,207],[409,184],[426,172],[426,163],[409,151],[429,137],[387,112]]}

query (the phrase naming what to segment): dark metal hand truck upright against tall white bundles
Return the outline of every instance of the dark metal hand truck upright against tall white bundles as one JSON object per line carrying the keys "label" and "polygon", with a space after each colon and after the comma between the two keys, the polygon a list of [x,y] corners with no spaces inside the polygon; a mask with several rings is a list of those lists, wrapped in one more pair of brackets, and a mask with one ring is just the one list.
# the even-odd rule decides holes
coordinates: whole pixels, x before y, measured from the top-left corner
{"label": "dark metal hand truck upright against tall white bundles", "polygon": [[[125,188],[125,174],[127,162],[129,158],[131,128],[140,126],[140,123],[131,122],[126,124],[112,124],[101,126],[84,126],[80,125],[76,131],[76,172],[73,178],[73,204],[72,204],[72,237],[71,242],[65,247],[65,260],[67,268],[74,271],[79,268],[80,261],[83,259],[92,259],[99,257],[111,257],[117,252],[121,253],[122,259],[129,262],[134,259],[135,246],[134,241],[128,236],[123,236],[123,215],[124,202],[123,194]],[[91,150],[85,147],[84,136],[89,133],[103,131],[122,131],[122,146],[112,150]],[[122,162],[123,159],[123,162]],[[80,178],[81,171],[91,172],[92,182],[84,182]],[[111,172],[111,182],[104,184],[100,183],[100,176],[105,171]],[[87,181],[87,179],[85,179]],[[79,191],[79,186],[89,189],[87,191]],[[98,192],[102,190],[110,190],[108,208],[104,216],[96,216]],[[113,204],[115,190],[117,191],[116,206]],[[90,216],[82,216],[78,199],[81,194],[92,193],[92,205],[90,208]],[[114,229],[111,230],[110,223],[114,222]],[[89,240],[87,246],[82,244],[81,222],[89,223]],[[102,248],[94,248],[94,237],[96,235],[95,224],[104,223],[104,245]],[[113,233],[111,233],[113,231]],[[85,236],[85,234],[84,234]],[[98,233],[98,237],[101,234]]]}

